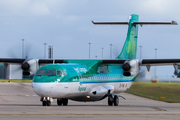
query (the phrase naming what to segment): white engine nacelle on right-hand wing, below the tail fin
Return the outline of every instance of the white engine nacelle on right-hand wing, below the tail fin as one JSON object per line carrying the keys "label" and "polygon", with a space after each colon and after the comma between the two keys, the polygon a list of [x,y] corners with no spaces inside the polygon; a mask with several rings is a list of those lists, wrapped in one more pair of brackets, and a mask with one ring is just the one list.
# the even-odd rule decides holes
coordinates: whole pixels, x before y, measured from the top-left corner
{"label": "white engine nacelle on right-hand wing, below the tail fin", "polygon": [[137,75],[140,71],[139,61],[138,60],[127,60],[122,65],[123,75],[124,76],[134,76]]}

